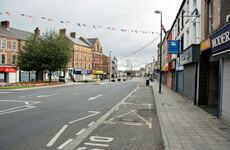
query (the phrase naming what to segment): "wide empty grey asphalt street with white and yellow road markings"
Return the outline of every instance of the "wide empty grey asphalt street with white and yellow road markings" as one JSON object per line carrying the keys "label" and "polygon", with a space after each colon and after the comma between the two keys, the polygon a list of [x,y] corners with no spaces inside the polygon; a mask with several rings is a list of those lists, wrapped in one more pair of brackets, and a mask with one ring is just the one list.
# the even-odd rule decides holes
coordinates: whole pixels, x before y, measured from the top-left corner
{"label": "wide empty grey asphalt street with white and yellow road markings", "polygon": [[2,90],[0,149],[160,149],[153,96],[144,83]]}

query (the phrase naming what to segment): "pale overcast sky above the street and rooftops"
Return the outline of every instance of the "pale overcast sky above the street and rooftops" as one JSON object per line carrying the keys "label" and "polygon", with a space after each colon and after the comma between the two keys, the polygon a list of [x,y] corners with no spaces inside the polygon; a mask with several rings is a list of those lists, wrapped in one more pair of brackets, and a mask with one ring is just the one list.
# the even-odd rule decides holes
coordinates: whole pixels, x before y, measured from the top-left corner
{"label": "pale overcast sky above the street and rooftops", "polygon": [[[134,69],[139,69],[152,62],[153,56],[157,58],[160,39],[134,55],[121,58],[141,49],[157,34],[110,31],[92,26],[160,32],[160,15],[154,11],[161,10],[163,25],[169,30],[181,3],[182,0],[0,0],[0,21],[9,20],[11,27],[29,32],[36,27],[41,32],[50,29],[59,32],[59,29],[66,28],[67,34],[76,32],[77,37],[98,37],[103,53],[108,56],[111,50],[112,57],[118,58],[119,69],[126,69],[127,59],[133,62]],[[11,13],[11,16],[5,12]],[[33,19],[22,17],[22,13]],[[59,20],[70,23],[63,24]],[[80,27],[77,23],[91,26]]]}

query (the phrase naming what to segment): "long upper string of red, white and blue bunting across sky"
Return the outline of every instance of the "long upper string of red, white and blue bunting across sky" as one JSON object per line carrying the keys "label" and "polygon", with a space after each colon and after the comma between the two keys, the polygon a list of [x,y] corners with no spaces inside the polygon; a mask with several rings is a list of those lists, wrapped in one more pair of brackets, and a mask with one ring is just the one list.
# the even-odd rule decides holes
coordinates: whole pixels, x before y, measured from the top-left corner
{"label": "long upper string of red, white and blue bunting across sky", "polygon": [[113,28],[113,27],[88,25],[88,24],[84,24],[84,23],[73,23],[71,21],[51,19],[48,17],[35,17],[35,16],[31,16],[31,15],[26,15],[24,13],[13,13],[13,12],[9,12],[9,11],[6,11],[6,12],[0,11],[0,15],[3,15],[3,14],[7,14],[8,16],[19,15],[21,17],[27,17],[30,19],[42,19],[42,20],[47,20],[47,21],[51,21],[51,22],[58,22],[58,23],[62,23],[62,24],[73,24],[73,25],[77,25],[78,27],[83,27],[83,28],[106,29],[106,30],[110,30],[110,31],[121,31],[124,33],[132,32],[132,33],[157,34],[157,35],[159,35],[159,32],[140,31],[140,30],[134,30],[134,29],[133,30],[131,30],[131,29],[118,29],[118,28]]}

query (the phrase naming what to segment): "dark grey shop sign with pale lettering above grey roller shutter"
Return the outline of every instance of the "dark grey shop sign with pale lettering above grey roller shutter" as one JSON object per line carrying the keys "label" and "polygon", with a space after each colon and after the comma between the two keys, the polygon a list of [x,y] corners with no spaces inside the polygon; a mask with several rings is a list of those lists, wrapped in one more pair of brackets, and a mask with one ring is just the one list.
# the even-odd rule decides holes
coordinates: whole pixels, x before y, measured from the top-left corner
{"label": "dark grey shop sign with pale lettering above grey roller shutter", "polygon": [[200,46],[191,45],[180,54],[180,65],[199,61]]}

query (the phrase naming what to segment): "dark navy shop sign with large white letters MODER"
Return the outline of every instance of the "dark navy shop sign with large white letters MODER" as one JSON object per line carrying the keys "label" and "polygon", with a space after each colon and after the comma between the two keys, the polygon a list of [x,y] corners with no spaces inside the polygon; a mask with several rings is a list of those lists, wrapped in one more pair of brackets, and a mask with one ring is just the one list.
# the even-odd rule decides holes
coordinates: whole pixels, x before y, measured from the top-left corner
{"label": "dark navy shop sign with large white letters MODER", "polygon": [[210,36],[212,53],[230,48],[230,24]]}

